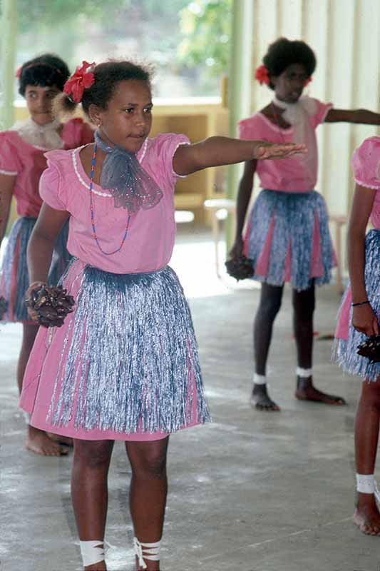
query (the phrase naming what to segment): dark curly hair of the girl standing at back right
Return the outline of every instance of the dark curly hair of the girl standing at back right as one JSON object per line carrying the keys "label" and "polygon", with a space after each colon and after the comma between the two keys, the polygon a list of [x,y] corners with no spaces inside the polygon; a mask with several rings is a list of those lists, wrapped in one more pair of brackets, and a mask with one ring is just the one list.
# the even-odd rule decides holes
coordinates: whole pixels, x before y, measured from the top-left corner
{"label": "dark curly hair of the girl standing at back right", "polygon": [[[262,63],[267,68],[269,77],[281,75],[292,64],[302,64],[310,77],[317,66],[317,59],[314,51],[304,41],[279,38],[270,44]],[[269,87],[274,89],[272,82],[269,82]]]}

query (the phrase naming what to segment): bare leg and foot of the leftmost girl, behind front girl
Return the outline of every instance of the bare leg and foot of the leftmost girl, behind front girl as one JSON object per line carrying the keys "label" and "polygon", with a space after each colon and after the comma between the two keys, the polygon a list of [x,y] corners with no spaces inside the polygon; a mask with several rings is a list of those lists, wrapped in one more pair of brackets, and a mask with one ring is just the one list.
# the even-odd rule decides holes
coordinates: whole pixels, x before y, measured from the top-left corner
{"label": "bare leg and foot of the leftmost girl, behind front girl", "polygon": [[[21,394],[22,383],[24,379],[24,373],[26,369],[26,364],[28,363],[29,355],[34,345],[34,340],[36,339],[38,331],[37,325],[29,325],[23,323],[23,335],[21,343],[21,351],[19,355],[19,363],[17,363],[17,385],[19,387],[19,393]],[[26,437],[25,447],[27,450],[31,450],[35,454],[40,454],[42,456],[61,456],[67,454],[67,450],[62,448],[58,443],[52,442],[48,435],[28,425],[28,435]]]}

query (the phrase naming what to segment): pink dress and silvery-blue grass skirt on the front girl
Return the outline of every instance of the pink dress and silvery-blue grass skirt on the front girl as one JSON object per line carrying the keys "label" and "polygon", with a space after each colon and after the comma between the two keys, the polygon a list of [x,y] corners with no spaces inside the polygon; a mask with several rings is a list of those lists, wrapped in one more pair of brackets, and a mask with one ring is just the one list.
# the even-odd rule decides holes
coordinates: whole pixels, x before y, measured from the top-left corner
{"label": "pink dress and silvery-blue grass skirt on the front girl", "polygon": [[[190,312],[167,266],[175,239],[173,155],[184,143],[187,137],[170,133],[145,140],[137,158],[163,198],[131,216],[113,256],[92,235],[80,149],[47,153],[40,193],[71,215],[74,261],[63,284],[78,303],[61,328],[38,331],[21,394],[36,428],[86,440],[157,440],[209,420]],[[113,251],[127,213],[96,184],[93,201],[101,248]]]}

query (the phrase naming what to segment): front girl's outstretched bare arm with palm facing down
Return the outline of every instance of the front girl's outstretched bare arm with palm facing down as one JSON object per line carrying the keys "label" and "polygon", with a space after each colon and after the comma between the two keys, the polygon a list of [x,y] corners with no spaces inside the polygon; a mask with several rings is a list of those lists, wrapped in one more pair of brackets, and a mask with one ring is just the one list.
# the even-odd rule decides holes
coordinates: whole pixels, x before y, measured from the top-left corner
{"label": "front girl's outstretched bare arm with palm facing down", "polygon": [[188,175],[210,166],[231,165],[259,158],[285,158],[306,152],[304,145],[294,143],[209,137],[200,143],[179,146],[173,157],[173,168],[179,175]]}

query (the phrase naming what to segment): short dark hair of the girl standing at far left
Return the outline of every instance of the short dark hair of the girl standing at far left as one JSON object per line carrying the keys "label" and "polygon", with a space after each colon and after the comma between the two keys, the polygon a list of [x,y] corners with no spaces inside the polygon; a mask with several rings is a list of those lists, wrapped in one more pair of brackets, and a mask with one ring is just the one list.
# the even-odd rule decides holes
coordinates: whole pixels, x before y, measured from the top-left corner
{"label": "short dark hair of the girl standing at far left", "polygon": [[70,76],[68,66],[63,59],[53,54],[42,54],[26,61],[21,66],[19,74],[19,94],[24,96],[26,86],[38,85],[41,87],[56,86],[60,91]]}

